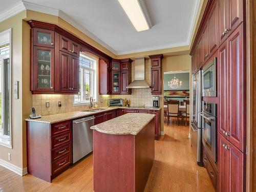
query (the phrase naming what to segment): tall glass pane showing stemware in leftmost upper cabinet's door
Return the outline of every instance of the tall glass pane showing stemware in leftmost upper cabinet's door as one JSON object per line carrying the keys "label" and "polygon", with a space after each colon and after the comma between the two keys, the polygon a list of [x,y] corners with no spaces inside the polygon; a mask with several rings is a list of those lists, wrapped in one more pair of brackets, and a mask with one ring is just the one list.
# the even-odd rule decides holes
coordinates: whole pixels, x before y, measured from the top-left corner
{"label": "tall glass pane showing stemware in leftmost upper cabinet's door", "polygon": [[38,50],[37,88],[51,87],[51,51]]}

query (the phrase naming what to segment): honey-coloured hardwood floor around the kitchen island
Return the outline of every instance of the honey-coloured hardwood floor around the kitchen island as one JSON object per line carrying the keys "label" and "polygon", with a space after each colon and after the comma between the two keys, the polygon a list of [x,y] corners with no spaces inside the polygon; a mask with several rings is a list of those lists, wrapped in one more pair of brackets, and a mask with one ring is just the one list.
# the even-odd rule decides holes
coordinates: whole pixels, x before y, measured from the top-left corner
{"label": "honey-coloured hardwood floor around the kitchen island", "polygon": [[[196,165],[188,126],[165,124],[164,132],[155,142],[155,163],[144,191],[214,191],[206,169]],[[31,175],[20,177],[0,166],[0,191],[93,191],[92,160],[93,155],[82,159],[52,183]]]}

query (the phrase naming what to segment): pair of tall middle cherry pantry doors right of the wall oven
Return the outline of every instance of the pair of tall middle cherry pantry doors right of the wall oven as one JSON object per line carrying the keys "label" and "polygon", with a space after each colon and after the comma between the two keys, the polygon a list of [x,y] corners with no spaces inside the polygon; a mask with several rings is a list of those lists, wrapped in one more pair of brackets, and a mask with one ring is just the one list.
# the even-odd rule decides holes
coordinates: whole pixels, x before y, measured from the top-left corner
{"label": "pair of tall middle cherry pantry doors right of the wall oven", "polygon": [[246,66],[243,24],[220,49],[220,130],[239,150],[245,152],[246,136]]}

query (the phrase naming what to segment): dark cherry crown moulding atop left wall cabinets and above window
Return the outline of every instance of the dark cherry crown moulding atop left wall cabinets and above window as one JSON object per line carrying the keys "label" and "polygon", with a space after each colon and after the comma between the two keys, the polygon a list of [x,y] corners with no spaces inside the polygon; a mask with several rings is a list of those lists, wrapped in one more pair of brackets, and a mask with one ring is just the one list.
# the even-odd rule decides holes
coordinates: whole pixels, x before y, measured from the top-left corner
{"label": "dark cherry crown moulding atop left wall cabinets and above window", "polygon": [[96,56],[98,56],[99,58],[101,58],[105,61],[112,60],[112,57],[110,57],[109,55],[101,52],[97,48],[91,46],[87,42],[84,42],[83,40],[79,39],[78,37],[72,35],[71,33],[67,32],[67,31],[65,31],[64,29],[60,28],[57,25],[39,22],[37,20],[29,20],[28,24],[30,25],[31,28],[37,27],[37,28],[42,28],[42,29],[50,29],[50,30],[53,30],[65,37],[70,38],[71,40],[77,42],[81,46],[82,52],[89,52],[89,53],[95,54]]}

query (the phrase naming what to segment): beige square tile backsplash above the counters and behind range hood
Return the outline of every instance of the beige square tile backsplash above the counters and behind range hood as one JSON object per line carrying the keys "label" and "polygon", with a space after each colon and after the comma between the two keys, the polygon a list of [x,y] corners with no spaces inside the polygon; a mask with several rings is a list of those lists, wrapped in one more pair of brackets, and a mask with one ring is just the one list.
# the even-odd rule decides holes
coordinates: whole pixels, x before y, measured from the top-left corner
{"label": "beige square tile backsplash above the counters and behind range hood", "polygon": [[[135,62],[132,62],[132,81],[135,79]],[[145,80],[151,84],[151,63],[150,59],[146,59],[146,75]],[[107,106],[109,98],[130,99],[132,106],[153,105],[153,96],[151,89],[133,89],[131,95],[99,95],[99,106]],[[162,99],[162,95],[161,95]],[[61,101],[61,106],[58,106]],[[102,102],[101,102],[102,101]],[[50,102],[50,107],[46,107],[46,102]],[[58,113],[66,113],[71,111],[81,111],[89,109],[89,105],[73,105],[73,95],[32,95],[32,106],[36,113],[40,115],[53,115]]]}

